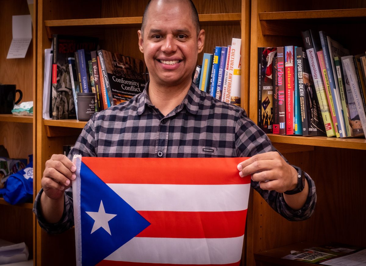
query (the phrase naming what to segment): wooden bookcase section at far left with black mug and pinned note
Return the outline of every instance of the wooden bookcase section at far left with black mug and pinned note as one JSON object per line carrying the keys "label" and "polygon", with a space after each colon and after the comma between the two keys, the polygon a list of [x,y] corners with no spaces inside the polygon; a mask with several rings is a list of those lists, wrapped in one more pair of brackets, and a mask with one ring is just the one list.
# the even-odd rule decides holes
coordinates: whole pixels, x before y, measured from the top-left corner
{"label": "wooden bookcase section at far left with black mug and pinned note", "polygon": [[[35,31],[25,58],[6,59],[12,41],[12,16],[29,15],[27,1],[0,0],[0,83],[16,84],[23,92],[22,102],[35,98]],[[34,26],[34,25],[33,25]],[[18,99],[18,94],[16,94]],[[8,150],[10,158],[26,158],[34,151],[34,117],[0,114],[0,145]],[[32,204],[10,205],[0,198],[0,239],[14,243],[25,242],[29,258],[33,258],[34,217]]]}

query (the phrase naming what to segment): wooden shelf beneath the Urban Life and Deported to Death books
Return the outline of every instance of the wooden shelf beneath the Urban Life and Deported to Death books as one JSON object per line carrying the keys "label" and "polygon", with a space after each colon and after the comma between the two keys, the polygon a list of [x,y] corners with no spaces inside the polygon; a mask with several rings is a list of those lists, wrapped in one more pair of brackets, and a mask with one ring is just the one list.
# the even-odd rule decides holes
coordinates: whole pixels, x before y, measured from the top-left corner
{"label": "wooden shelf beneath the Urban Life and Deported to Death books", "polygon": [[284,136],[277,134],[268,134],[268,137],[274,144],[287,143],[287,144],[298,144],[298,145],[366,150],[365,138],[302,137],[302,136]]}

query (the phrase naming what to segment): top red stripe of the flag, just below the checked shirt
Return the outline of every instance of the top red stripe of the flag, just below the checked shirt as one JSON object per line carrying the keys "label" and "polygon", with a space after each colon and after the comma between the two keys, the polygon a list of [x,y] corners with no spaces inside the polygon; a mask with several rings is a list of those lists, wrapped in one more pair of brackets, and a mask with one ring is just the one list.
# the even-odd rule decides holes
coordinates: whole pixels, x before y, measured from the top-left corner
{"label": "top red stripe of the flag, just below the checked shirt", "polygon": [[[223,185],[248,184],[237,165],[247,157],[232,158],[103,158],[82,157],[104,183]],[[181,165],[187,165],[182,172]],[[158,171],[157,171],[158,170]]]}

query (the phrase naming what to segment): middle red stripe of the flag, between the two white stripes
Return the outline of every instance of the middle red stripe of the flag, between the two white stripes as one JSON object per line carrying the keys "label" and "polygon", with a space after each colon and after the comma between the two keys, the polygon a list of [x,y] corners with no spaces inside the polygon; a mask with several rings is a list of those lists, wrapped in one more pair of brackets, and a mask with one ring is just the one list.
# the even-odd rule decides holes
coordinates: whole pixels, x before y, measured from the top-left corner
{"label": "middle red stripe of the flag, between the two white stripes", "polygon": [[145,238],[234,238],[244,235],[247,210],[232,212],[138,211],[151,225]]}

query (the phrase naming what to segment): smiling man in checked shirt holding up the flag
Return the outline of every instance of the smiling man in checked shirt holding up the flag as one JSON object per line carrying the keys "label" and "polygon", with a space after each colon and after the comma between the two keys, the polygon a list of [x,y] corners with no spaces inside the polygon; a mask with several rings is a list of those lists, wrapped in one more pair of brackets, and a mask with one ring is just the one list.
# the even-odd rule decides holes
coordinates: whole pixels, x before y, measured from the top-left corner
{"label": "smiling man in checked shirt holding up the flag", "polygon": [[[251,157],[238,165],[238,174],[251,175],[254,189],[287,219],[309,218],[316,202],[313,180],[281,157],[243,109],[215,100],[192,83],[205,40],[193,3],[152,0],[138,37],[150,75],[146,89],[129,102],[96,113],[70,158]],[[75,170],[63,155],[46,162],[34,209],[49,232],[73,225],[72,194],[65,190]]]}

